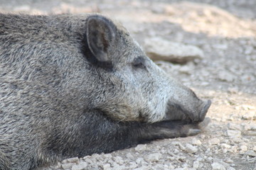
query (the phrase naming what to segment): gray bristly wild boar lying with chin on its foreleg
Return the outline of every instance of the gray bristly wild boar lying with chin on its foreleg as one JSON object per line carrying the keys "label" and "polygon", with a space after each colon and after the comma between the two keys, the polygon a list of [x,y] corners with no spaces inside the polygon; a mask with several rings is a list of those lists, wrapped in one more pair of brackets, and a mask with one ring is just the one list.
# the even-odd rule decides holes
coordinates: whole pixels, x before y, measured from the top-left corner
{"label": "gray bristly wild boar lying with chin on its foreleg", "polygon": [[209,106],[109,18],[0,13],[2,170],[196,135]]}

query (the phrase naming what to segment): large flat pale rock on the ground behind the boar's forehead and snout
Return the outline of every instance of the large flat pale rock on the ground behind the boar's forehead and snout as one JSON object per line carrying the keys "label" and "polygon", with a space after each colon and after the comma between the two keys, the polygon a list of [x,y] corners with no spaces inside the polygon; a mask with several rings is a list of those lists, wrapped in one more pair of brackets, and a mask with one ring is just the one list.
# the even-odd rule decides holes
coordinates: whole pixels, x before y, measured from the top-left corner
{"label": "large flat pale rock on the ground behind the boar's forehead and snout", "polygon": [[196,46],[171,42],[159,37],[144,40],[144,48],[146,55],[152,60],[184,64],[203,57],[203,51]]}

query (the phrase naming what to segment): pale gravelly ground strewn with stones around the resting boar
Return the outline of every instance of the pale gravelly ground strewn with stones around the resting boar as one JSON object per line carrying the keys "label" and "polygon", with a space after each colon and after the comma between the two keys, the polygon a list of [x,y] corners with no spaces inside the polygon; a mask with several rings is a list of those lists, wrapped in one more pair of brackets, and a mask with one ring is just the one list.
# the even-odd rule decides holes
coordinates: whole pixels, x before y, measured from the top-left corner
{"label": "pale gravelly ground strewn with stones around the resting boar", "polygon": [[213,101],[212,121],[200,135],[43,169],[256,169],[255,0],[0,0],[0,11],[108,15],[167,73]]}

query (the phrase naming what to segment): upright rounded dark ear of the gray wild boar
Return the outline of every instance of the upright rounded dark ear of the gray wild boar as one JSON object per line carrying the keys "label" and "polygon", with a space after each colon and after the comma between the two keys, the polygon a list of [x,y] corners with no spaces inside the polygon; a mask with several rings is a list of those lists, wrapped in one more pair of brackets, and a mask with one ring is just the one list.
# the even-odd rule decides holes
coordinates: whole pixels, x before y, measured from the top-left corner
{"label": "upright rounded dark ear of the gray wild boar", "polygon": [[86,21],[87,44],[99,62],[110,62],[107,50],[114,43],[117,28],[103,16],[89,16]]}

